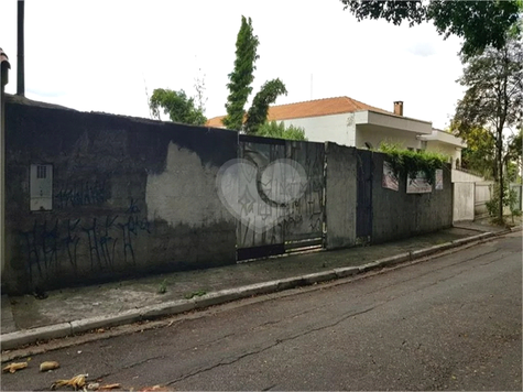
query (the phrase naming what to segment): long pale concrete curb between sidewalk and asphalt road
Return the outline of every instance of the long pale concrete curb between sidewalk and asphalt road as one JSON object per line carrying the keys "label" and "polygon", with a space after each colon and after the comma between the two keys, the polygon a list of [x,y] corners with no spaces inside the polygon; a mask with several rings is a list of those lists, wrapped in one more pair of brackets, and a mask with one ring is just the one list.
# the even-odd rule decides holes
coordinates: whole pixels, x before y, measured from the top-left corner
{"label": "long pale concrete curb between sidewalk and asphalt road", "polygon": [[521,226],[500,232],[484,232],[478,236],[461,238],[451,242],[433,246],[429,248],[395,254],[389,258],[358,265],[336,268],[328,271],[305,274],[295,277],[281,279],[276,281],[250,284],[239,288],[226,288],[206,294],[198,298],[170,301],[159,305],[150,305],[140,309],[127,311],[118,314],[97,316],[69,323],[50,325],[45,327],[19,330],[1,336],[1,349],[11,350],[21,346],[34,344],[39,340],[50,340],[64,338],[69,335],[85,333],[96,328],[115,327],[123,324],[132,324],[140,320],[149,320],[155,317],[175,315],[188,311],[200,309],[214,305],[220,305],[254,295],[271,294],[284,290],[313,285],[320,282],[334,281],[352,276],[367,271],[392,266],[405,261],[421,259],[444,250],[461,247],[467,243],[487,240],[492,237],[502,236],[508,232],[521,231]]}

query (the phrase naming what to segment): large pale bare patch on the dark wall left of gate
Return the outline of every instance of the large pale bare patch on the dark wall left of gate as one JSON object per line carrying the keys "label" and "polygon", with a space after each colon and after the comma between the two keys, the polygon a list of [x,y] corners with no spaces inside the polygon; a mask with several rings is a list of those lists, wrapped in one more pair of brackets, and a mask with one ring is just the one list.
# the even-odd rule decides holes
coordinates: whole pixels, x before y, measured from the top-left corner
{"label": "large pale bare patch on the dark wall left of gate", "polygon": [[148,218],[167,221],[171,226],[201,226],[227,217],[216,192],[218,168],[204,166],[199,156],[170,143],[165,171],[149,174],[145,193]]}

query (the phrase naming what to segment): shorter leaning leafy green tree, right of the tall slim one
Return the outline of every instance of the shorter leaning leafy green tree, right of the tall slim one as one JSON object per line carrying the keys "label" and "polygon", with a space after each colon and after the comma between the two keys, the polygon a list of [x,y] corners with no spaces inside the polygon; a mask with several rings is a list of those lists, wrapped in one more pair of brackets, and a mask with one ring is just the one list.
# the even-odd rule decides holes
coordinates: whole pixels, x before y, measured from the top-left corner
{"label": "shorter leaning leafy green tree, right of the tall slim one", "polygon": [[274,104],[276,98],[287,94],[285,85],[280,79],[266,81],[254,96],[252,106],[247,112],[244,130],[247,134],[259,134],[259,128],[265,122],[269,113],[269,105]]}

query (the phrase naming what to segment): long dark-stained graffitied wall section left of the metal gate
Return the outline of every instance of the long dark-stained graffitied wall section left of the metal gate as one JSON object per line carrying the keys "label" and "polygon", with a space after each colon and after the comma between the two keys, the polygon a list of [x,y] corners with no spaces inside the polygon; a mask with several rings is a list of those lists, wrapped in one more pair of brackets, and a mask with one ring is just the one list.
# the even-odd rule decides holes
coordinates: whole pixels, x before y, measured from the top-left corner
{"label": "long dark-stained graffitied wall section left of the metal gate", "polygon": [[[236,132],[6,109],[7,292],[236,262],[236,220],[216,192]],[[30,210],[35,164],[52,165],[51,210]]]}

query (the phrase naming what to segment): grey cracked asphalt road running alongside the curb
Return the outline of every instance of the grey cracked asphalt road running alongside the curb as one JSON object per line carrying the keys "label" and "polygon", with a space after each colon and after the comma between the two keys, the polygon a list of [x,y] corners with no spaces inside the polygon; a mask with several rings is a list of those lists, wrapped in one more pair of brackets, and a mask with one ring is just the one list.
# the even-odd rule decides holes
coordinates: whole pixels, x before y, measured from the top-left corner
{"label": "grey cracked asphalt road running alongside the curb", "polygon": [[[282,260],[282,262],[285,262]],[[37,355],[2,391],[88,373],[124,389],[522,390],[522,238],[350,283],[217,306]],[[37,364],[57,360],[54,372]]]}

